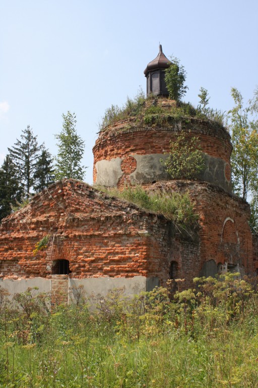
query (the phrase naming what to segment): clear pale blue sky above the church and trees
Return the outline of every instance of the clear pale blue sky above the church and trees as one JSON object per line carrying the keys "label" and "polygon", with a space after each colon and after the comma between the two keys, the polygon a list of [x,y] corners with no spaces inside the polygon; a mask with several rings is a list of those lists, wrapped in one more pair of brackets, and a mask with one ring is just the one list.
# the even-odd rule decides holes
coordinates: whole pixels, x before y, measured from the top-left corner
{"label": "clear pale blue sky above the church and trees", "polygon": [[159,52],[187,72],[186,101],[232,107],[232,86],[247,101],[258,84],[257,0],[1,0],[0,162],[30,125],[57,152],[62,113],[77,115],[92,183],[98,122],[112,104],[146,89],[143,71]]}

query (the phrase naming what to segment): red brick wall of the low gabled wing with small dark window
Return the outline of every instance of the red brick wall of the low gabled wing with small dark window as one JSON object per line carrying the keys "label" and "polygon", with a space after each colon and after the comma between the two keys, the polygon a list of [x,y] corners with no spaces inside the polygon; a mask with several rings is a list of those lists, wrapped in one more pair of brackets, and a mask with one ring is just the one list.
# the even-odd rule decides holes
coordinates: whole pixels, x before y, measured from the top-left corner
{"label": "red brick wall of the low gabled wing with small dark window", "polygon": [[[46,234],[51,235],[47,249],[33,256],[36,242]],[[163,216],[74,180],[35,196],[0,228],[0,271],[6,277],[53,277],[53,262],[67,259],[71,277],[158,276],[165,284],[175,260],[178,275],[190,284],[184,267],[196,268],[198,252],[199,245],[175,235]]]}

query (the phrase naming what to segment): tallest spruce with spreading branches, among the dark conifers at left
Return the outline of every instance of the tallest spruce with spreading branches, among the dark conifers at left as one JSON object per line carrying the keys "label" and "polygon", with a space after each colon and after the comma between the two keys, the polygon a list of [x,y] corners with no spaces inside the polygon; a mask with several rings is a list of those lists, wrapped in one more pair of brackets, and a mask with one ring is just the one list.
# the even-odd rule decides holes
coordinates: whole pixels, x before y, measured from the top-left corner
{"label": "tallest spruce with spreading branches, among the dark conifers at left", "polygon": [[42,146],[38,145],[37,136],[33,135],[29,125],[22,131],[21,140],[17,139],[14,146],[8,149],[17,170],[19,184],[27,198],[33,186],[33,175],[41,149]]}

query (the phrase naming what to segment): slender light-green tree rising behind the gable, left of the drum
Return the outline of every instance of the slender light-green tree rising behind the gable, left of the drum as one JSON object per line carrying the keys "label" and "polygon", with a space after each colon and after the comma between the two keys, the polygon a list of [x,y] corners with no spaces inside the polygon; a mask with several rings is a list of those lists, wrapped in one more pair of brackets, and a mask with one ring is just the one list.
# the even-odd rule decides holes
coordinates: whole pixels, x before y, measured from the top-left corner
{"label": "slender light-green tree rising behind the gable, left of the drum", "polygon": [[58,140],[55,179],[74,178],[82,180],[85,175],[85,166],[81,165],[85,142],[76,132],[75,113],[68,111],[66,115],[62,115],[62,118],[62,130],[55,135]]}

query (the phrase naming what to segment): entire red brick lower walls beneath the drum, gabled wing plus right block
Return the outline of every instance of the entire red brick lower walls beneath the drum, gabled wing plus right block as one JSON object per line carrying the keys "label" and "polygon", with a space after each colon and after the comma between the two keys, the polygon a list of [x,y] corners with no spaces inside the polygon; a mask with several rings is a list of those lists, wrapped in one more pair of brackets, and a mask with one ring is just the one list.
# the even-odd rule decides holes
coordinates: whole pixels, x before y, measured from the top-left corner
{"label": "entire red brick lower walls beneath the drum, gabled wing plus right block", "polygon": [[[164,285],[170,263],[175,261],[177,276],[185,278],[184,287],[188,287],[205,261],[231,260],[253,274],[257,262],[246,203],[205,182],[169,181],[151,186],[161,187],[190,192],[200,214],[198,233],[176,233],[163,216],[66,180],[3,220],[0,272],[7,277],[52,277],[52,263],[67,259],[71,277],[158,276]],[[225,222],[227,218],[234,222]],[[51,243],[33,256],[36,242],[46,234],[51,235]]]}

